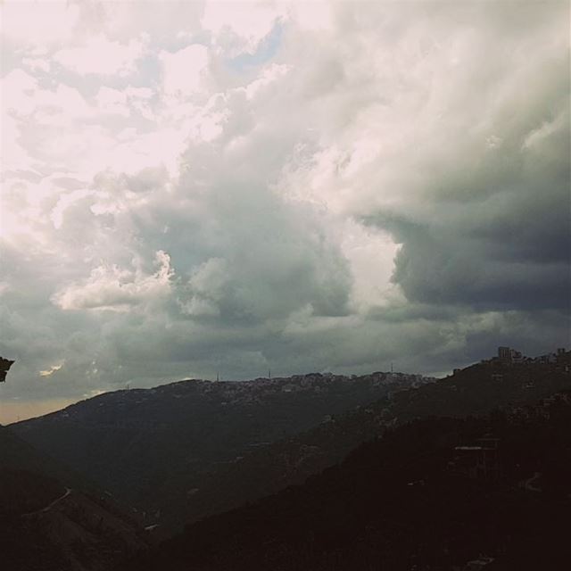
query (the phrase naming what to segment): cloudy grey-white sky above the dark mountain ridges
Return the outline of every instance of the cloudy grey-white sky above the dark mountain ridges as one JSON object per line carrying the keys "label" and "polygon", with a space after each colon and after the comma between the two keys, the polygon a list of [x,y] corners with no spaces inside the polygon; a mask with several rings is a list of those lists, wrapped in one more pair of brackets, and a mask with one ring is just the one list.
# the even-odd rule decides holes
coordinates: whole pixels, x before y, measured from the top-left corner
{"label": "cloudy grey-white sky above the dark mountain ridges", "polygon": [[0,18],[0,422],[569,345],[567,2]]}

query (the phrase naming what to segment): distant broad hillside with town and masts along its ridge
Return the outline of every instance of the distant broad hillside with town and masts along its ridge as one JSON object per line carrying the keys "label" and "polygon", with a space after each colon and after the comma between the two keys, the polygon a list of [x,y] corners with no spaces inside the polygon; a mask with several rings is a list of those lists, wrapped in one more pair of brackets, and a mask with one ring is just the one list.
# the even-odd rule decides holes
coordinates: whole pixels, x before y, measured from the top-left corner
{"label": "distant broad hillside with town and masts along its ridge", "polygon": [[182,381],[105,393],[12,429],[145,513],[147,523],[165,514],[180,522],[173,507],[248,452],[429,380],[376,373]]}

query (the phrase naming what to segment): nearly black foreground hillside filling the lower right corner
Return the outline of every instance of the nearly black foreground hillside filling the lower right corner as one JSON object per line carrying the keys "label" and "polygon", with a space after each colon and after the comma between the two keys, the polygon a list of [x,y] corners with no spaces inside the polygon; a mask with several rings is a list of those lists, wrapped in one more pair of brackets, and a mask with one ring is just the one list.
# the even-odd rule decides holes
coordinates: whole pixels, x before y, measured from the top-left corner
{"label": "nearly black foreground hillside filling the lower right corner", "polygon": [[[571,394],[548,415],[532,410],[406,423],[306,484],[189,525],[126,568],[567,569]],[[487,468],[476,471],[483,447]]]}

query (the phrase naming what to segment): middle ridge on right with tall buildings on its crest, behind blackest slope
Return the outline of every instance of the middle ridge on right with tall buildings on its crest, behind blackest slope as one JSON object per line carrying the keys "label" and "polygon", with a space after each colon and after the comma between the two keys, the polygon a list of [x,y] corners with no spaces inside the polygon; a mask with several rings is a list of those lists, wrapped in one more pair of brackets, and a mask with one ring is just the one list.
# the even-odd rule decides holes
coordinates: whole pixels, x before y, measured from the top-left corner
{"label": "middle ridge on right with tall buildings on its crest, behind blackest slope", "polygon": [[302,484],[360,443],[415,418],[483,415],[499,406],[525,406],[571,388],[568,359],[567,352],[559,363],[479,363],[436,383],[390,393],[359,410],[326,418],[309,431],[260,447],[218,470],[188,495],[185,505],[178,505],[177,517],[193,522]]}

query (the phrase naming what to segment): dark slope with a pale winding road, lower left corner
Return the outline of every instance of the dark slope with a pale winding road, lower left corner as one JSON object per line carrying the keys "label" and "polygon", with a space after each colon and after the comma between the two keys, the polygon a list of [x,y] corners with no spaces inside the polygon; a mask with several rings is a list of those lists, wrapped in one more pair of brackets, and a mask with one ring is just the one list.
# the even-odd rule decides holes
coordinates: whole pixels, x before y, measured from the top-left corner
{"label": "dark slope with a pale winding road, lower left corner", "polygon": [[106,571],[145,548],[109,498],[0,426],[0,551],[13,571]]}

